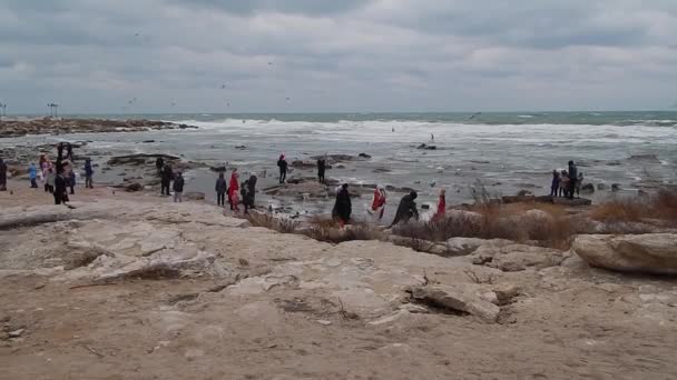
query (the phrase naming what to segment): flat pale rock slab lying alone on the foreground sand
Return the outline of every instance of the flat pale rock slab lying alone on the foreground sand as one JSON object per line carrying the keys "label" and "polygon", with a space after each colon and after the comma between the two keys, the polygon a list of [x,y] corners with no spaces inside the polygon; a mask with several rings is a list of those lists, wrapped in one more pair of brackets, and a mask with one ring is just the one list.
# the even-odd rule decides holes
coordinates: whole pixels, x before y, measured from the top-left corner
{"label": "flat pale rock slab lying alone on the foreground sand", "polygon": [[412,288],[412,298],[439,308],[461,311],[494,323],[501,309],[467,287],[425,286]]}

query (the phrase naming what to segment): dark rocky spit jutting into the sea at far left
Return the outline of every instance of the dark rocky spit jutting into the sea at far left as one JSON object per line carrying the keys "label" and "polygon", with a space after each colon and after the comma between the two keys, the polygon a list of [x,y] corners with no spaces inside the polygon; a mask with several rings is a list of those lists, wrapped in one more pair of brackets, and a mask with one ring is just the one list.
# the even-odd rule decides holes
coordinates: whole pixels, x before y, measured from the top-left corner
{"label": "dark rocky spit jutting into the sea at far left", "polygon": [[139,132],[161,129],[197,129],[157,120],[104,120],[104,119],[60,119],[43,118],[31,120],[1,120],[0,138],[27,134],[66,134],[97,132]]}

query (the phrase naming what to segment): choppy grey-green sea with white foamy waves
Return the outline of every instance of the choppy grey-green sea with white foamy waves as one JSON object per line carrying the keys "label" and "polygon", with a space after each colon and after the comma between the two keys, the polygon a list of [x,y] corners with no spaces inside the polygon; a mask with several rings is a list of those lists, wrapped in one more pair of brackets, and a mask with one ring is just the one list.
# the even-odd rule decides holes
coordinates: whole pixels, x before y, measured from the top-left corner
{"label": "choppy grey-green sea with white foamy waves", "polygon": [[[552,170],[572,160],[585,182],[624,193],[677,182],[677,111],[635,112],[438,112],[438,113],[151,113],[69,114],[68,118],[154,119],[198,129],[139,133],[26,137],[18,141],[86,140],[90,150],[163,152],[241,172],[266,172],[276,160],[321,154],[369,154],[327,171],[338,182],[413,188],[421,203],[447,189],[448,204],[472,201],[482,187],[494,197],[528,190],[550,192]],[[147,142],[154,140],[154,142]],[[146,142],[144,142],[146,141]],[[419,149],[425,144],[434,149]],[[210,197],[215,173],[188,174],[187,187]],[[291,173],[312,177],[313,170]],[[601,184],[601,186],[600,186]],[[391,194],[399,198],[400,193]],[[599,201],[614,192],[596,191]],[[275,200],[269,200],[275,202]],[[361,201],[366,207],[369,199]],[[396,203],[396,200],[390,202]],[[316,204],[315,204],[316,207]],[[362,208],[362,206],[357,206]],[[317,211],[317,210],[315,210]]]}

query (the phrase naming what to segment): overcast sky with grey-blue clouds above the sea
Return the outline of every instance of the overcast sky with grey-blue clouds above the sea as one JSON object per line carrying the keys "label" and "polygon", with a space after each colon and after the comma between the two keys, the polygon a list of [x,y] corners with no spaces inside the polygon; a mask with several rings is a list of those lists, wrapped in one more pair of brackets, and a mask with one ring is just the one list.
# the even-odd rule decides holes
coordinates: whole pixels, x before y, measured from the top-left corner
{"label": "overcast sky with grey-blue clouds above the sea", "polygon": [[52,101],[80,113],[668,109],[677,0],[0,1],[0,102]]}

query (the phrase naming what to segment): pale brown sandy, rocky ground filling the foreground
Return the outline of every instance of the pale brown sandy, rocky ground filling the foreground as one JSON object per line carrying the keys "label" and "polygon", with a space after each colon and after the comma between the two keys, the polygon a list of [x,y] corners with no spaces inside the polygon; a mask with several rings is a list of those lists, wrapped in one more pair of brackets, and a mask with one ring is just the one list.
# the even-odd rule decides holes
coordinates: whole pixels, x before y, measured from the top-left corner
{"label": "pale brown sandy, rocky ground filling the foreground", "polygon": [[[51,204],[50,197],[24,184],[10,182],[13,194],[0,193],[0,212]],[[126,200],[175,212],[168,199],[155,194],[76,191],[77,201]],[[192,204],[198,203],[181,206],[178,217],[190,219]],[[396,284],[423,272],[444,284],[468,282],[463,270],[470,264],[383,242],[331,246],[257,228],[176,218],[160,223],[161,218],[129,212],[133,217],[101,221],[100,228],[92,221],[89,230],[56,222],[0,231],[0,320],[6,330],[24,329],[18,338],[0,340],[0,378],[677,378],[674,279],[621,276],[570,260],[561,267],[496,272],[498,283],[521,289],[501,308],[499,323],[431,309],[374,324],[404,302]],[[181,247],[217,252],[217,262],[230,274],[261,279],[287,270],[300,284],[208,291],[232,284],[232,277],[198,276],[90,286],[87,277],[62,278],[69,271],[40,274],[28,259],[58,252],[77,236],[68,228],[96,240],[137,221],[147,224],[144,239],[179,229]],[[330,287],[332,281],[337,286]],[[346,310],[356,318],[341,312],[336,293],[344,294]],[[380,296],[379,307],[367,293]]]}

